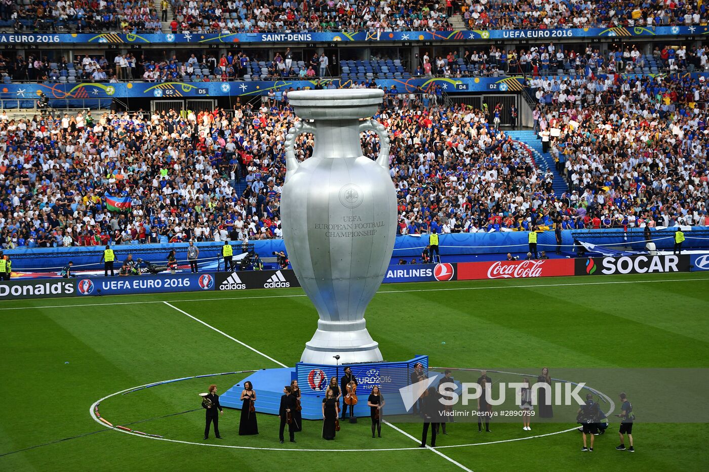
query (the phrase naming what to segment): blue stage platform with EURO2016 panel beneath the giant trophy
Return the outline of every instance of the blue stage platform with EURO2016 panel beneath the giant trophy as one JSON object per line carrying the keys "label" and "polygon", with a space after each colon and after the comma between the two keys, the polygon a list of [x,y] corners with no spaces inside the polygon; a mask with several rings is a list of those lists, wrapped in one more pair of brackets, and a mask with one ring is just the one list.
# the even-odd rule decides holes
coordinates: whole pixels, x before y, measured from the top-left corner
{"label": "blue stage platform with EURO2016 panel beneath the giant trophy", "polygon": [[[278,415],[284,386],[290,385],[291,381],[297,378],[298,386],[301,388],[301,407],[303,408],[301,415],[303,419],[320,420],[323,418],[323,398],[329,379],[337,376],[337,385],[339,386],[344,369],[349,366],[359,382],[357,387],[359,401],[357,405],[354,405],[354,416],[369,416],[367,398],[375,385],[379,385],[384,394],[386,414],[399,415],[406,413],[406,408],[404,408],[401,395],[398,394],[398,388],[408,384],[413,366],[418,362],[423,364],[424,370],[428,372],[428,356],[420,355],[403,362],[343,364],[339,367],[299,362],[296,367],[263,369],[252,373],[227,390],[219,397],[219,402],[227,408],[241,409],[242,401],[239,398],[244,389],[244,383],[249,381],[256,391],[256,411]],[[384,372],[382,373],[382,371]],[[392,373],[396,373],[398,378],[391,378]],[[340,408],[342,408],[342,403],[340,403]]]}

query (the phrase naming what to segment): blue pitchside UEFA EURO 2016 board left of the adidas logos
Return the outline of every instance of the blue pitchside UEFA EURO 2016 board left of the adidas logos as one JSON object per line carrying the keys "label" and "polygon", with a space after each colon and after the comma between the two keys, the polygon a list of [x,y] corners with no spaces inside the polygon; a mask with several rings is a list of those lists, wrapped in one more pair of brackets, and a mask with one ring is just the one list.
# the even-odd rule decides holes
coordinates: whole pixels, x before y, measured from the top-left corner
{"label": "blue pitchside UEFA EURO 2016 board left of the adidas logos", "polygon": [[77,295],[121,295],[214,290],[214,274],[157,274],[77,279]]}

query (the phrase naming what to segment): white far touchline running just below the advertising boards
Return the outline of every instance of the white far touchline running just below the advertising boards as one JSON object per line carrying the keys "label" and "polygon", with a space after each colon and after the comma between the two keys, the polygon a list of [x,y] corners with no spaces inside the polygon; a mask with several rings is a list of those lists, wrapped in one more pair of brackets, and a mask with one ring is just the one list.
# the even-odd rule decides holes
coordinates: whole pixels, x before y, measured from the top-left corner
{"label": "white far touchline running just below the advertising boards", "polygon": [[[409,293],[409,292],[438,292],[451,290],[497,290],[499,288],[535,288],[535,287],[566,287],[566,286],[584,286],[584,285],[610,285],[612,283],[664,283],[664,282],[690,282],[690,281],[709,281],[707,277],[694,279],[664,279],[664,280],[637,280],[637,281],[610,281],[610,282],[581,282],[581,283],[532,283],[529,285],[501,285],[490,287],[451,287],[451,288],[413,288],[411,290],[383,290],[375,293]],[[462,282],[462,281],[458,281]],[[157,294],[153,294],[157,295]],[[247,297],[217,297],[217,298],[186,298],[184,300],[145,300],[135,302],[112,302],[112,303],[78,303],[76,305],[44,305],[44,306],[23,306],[14,308],[0,308],[0,310],[40,310],[43,308],[79,308],[82,306],[111,306],[111,305],[143,305],[144,303],[182,303],[182,302],[204,302],[217,300],[252,300],[255,298],[298,298],[304,297],[305,294],[298,293],[294,295],[264,295],[264,296],[247,296]],[[3,300],[11,301],[11,300]]]}

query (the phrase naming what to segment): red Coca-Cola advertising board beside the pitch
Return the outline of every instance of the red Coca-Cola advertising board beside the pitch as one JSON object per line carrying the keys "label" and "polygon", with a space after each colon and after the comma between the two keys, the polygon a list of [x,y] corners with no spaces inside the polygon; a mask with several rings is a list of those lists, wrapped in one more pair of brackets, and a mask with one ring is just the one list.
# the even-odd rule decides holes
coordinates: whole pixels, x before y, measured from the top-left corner
{"label": "red Coca-Cola advertising board beside the pitch", "polygon": [[527,279],[574,275],[574,259],[459,262],[458,280]]}

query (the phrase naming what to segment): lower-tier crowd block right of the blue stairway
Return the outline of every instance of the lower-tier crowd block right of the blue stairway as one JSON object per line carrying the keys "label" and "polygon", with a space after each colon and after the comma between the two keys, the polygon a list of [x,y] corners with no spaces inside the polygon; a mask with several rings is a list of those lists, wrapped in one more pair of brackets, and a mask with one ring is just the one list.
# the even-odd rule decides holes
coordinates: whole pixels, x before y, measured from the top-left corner
{"label": "lower-tier crowd block right of the blue stairway", "polygon": [[593,227],[709,224],[704,77],[540,78],[531,86],[540,102],[535,129],[571,189],[564,227],[579,227],[580,217],[597,218]]}

